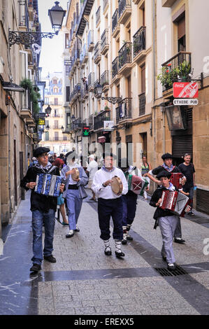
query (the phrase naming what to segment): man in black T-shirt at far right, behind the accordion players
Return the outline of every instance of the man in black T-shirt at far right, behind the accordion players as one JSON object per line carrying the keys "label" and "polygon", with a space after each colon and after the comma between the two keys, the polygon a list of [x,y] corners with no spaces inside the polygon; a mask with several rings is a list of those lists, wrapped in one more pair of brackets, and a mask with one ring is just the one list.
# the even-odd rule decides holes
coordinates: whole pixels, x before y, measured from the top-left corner
{"label": "man in black T-shirt at far right, behind the accordion players", "polygon": [[[187,181],[183,186],[183,191],[189,193],[189,199],[192,200],[192,204],[193,204],[194,186],[195,186],[195,169],[193,163],[191,162],[191,155],[189,153],[185,154],[184,160],[185,162],[181,163],[178,167],[182,172],[182,174],[184,174],[185,177],[187,178]],[[190,204],[191,211],[188,213],[188,215],[190,216],[194,216],[194,213],[192,212],[192,204]]]}

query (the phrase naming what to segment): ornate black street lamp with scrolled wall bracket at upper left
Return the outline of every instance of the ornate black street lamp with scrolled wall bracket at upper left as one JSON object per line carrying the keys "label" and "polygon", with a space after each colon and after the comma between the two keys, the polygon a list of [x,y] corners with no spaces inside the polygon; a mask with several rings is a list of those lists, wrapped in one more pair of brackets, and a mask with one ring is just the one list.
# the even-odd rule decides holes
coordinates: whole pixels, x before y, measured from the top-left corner
{"label": "ornate black street lamp with scrolled wall bracket at upper left", "polygon": [[55,33],[51,32],[32,32],[32,31],[10,31],[8,30],[8,43],[9,48],[11,45],[25,45],[26,48],[31,48],[31,45],[38,43],[41,38],[53,38],[59,33],[59,29],[62,27],[62,22],[64,16],[66,15],[66,10],[63,10],[62,7],[58,6],[59,2],[55,2],[55,6],[48,10],[48,15],[50,16],[50,21],[52,28],[55,30]]}

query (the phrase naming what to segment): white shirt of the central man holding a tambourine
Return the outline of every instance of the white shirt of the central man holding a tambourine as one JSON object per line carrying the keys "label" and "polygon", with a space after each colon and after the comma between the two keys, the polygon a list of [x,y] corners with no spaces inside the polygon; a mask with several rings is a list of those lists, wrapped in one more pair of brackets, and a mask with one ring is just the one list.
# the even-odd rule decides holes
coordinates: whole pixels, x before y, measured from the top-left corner
{"label": "white shirt of the central man holding a tambourine", "polygon": [[92,190],[96,194],[96,197],[102,197],[103,199],[117,199],[118,197],[121,197],[121,195],[116,195],[115,193],[113,193],[111,186],[104,187],[102,185],[106,181],[112,179],[114,176],[117,176],[122,180],[122,184],[123,184],[122,195],[128,193],[129,188],[124,173],[122,172],[121,169],[114,167],[113,170],[111,170],[110,172],[103,169],[99,169],[94,174]]}

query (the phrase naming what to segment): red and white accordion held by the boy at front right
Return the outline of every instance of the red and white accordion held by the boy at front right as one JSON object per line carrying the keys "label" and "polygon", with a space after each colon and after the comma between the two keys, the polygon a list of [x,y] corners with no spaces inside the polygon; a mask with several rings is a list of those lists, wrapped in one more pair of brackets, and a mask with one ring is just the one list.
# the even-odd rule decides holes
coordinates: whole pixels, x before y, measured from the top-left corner
{"label": "red and white accordion held by the boy at front right", "polygon": [[190,200],[187,195],[177,191],[164,190],[161,196],[159,208],[171,210],[175,215],[185,216],[189,209]]}

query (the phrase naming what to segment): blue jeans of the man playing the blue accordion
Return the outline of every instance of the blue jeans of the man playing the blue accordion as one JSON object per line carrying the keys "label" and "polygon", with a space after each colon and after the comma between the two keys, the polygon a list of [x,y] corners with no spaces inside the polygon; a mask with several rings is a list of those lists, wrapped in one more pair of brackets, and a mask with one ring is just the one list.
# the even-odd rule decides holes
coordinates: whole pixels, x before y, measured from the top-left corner
{"label": "blue jeans of the man playing the blue accordion", "polygon": [[[45,224],[44,249],[42,246],[42,230]],[[41,265],[43,255],[50,256],[53,251],[53,239],[55,231],[55,210],[48,212],[34,210],[32,211],[32,229],[33,229],[33,252],[32,262]]]}

